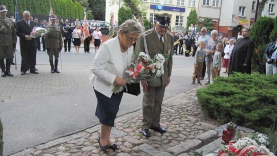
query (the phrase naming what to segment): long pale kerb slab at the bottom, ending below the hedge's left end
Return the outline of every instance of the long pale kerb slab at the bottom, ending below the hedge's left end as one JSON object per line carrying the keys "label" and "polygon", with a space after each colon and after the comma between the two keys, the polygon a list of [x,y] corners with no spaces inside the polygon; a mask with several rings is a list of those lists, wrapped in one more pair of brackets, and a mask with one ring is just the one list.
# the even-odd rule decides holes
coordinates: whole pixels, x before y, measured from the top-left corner
{"label": "long pale kerb slab at the bottom, ending below the hedge's left end", "polygon": [[184,152],[188,152],[191,149],[198,149],[202,146],[202,141],[200,140],[189,140],[186,141],[182,144],[173,146],[169,149],[167,149],[166,151],[173,154],[173,155],[178,155]]}

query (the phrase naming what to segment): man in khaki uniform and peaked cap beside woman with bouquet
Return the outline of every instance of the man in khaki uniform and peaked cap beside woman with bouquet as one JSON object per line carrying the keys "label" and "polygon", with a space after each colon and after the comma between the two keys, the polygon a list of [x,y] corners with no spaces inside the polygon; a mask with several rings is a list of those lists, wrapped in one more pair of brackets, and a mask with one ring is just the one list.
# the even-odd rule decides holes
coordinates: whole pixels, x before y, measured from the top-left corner
{"label": "man in khaki uniform and peaked cap beside woman with bouquet", "polygon": [[150,136],[149,128],[160,133],[166,132],[160,125],[160,118],[165,88],[170,83],[172,69],[174,38],[167,32],[170,17],[167,13],[157,14],[155,27],[141,34],[135,47],[135,51],[144,51],[152,59],[159,53],[169,54],[168,60],[164,63],[164,74],[151,82],[141,82],[144,89],[142,134],[146,137]]}

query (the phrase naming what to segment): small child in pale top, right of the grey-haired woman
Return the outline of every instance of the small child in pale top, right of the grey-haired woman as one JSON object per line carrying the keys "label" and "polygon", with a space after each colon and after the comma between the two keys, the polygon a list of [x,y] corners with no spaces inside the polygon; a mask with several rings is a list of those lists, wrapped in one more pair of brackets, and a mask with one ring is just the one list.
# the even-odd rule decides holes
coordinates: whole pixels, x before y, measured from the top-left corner
{"label": "small child in pale top, right of the grey-haired woman", "polygon": [[214,78],[218,77],[220,75],[220,69],[221,69],[221,50],[222,50],[222,44],[218,43],[216,45],[216,51],[213,55],[213,70],[214,70]]}

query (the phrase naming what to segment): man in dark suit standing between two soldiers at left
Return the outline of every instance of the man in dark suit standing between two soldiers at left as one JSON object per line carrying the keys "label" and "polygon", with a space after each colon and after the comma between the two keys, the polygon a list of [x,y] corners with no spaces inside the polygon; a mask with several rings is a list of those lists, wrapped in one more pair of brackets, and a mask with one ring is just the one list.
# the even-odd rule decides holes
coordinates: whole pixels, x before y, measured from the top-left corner
{"label": "man in dark suit standing between two soldiers at left", "polygon": [[32,29],[35,26],[33,21],[30,21],[30,12],[23,12],[23,19],[16,22],[16,35],[19,37],[21,50],[21,75],[25,75],[30,68],[30,73],[38,74],[35,71],[35,51],[37,47],[37,39],[30,36]]}

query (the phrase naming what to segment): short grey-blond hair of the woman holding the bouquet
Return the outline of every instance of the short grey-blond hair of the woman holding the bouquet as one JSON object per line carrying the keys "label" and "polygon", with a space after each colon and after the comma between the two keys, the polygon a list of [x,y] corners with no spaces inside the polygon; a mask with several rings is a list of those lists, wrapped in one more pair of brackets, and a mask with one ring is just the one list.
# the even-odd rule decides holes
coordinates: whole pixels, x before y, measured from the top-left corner
{"label": "short grey-blond hair of the woman holding the bouquet", "polygon": [[143,28],[140,24],[135,22],[133,19],[128,19],[118,27],[117,34],[120,34],[121,31],[123,31],[123,33],[141,34],[142,30]]}

